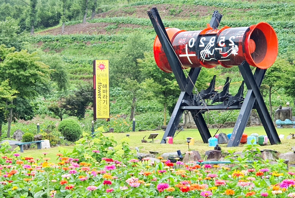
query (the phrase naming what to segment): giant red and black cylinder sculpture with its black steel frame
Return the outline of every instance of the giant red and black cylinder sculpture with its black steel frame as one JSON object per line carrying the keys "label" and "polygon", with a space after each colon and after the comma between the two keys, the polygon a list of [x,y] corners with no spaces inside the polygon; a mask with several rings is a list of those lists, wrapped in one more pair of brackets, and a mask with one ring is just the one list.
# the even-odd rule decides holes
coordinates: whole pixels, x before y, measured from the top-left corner
{"label": "giant red and black cylinder sculpture with its black steel frame", "polygon": [[[273,28],[265,22],[250,27],[223,27],[217,29],[222,15],[214,11],[210,24],[204,30],[185,31],[165,28],[158,10],[152,8],[148,15],[157,37],[154,42],[154,56],[158,67],[173,72],[181,90],[161,143],[166,137],[173,137],[184,111],[190,111],[204,143],[212,137],[203,117],[210,110],[240,109],[240,114],[228,141],[228,147],[238,146],[247,126],[252,109],[256,109],[271,144],[280,143],[264,98],[259,87],[266,69],[278,55],[278,39]],[[223,90],[215,90],[215,76],[206,90],[193,93],[194,84],[201,68],[238,66],[244,81],[236,95],[229,93],[230,80]],[[254,74],[251,66],[256,67]],[[183,68],[191,68],[187,75]],[[187,76],[187,77],[186,77]],[[244,98],[244,83],[248,90]],[[206,100],[212,100],[209,104]],[[212,105],[219,102],[217,105]]]}

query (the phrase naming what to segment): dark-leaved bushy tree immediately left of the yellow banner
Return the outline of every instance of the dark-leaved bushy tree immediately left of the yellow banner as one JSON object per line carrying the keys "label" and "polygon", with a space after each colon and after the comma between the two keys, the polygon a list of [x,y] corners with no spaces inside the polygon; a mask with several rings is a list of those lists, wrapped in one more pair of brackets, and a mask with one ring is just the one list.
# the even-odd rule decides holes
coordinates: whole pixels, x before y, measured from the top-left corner
{"label": "dark-leaved bushy tree immediately left of the yellow banner", "polygon": [[73,94],[65,97],[62,107],[68,115],[84,118],[86,109],[91,102],[93,102],[92,85],[80,85],[77,90],[73,91]]}

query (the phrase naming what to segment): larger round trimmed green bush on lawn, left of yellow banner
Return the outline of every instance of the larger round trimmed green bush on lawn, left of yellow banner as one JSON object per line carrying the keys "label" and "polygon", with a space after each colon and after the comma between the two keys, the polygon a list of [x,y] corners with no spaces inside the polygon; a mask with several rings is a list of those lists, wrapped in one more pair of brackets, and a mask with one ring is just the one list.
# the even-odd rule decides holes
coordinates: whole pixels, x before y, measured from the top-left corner
{"label": "larger round trimmed green bush on lawn, left of yellow banner", "polygon": [[82,127],[74,119],[65,119],[58,125],[58,130],[69,141],[75,142],[82,135]]}

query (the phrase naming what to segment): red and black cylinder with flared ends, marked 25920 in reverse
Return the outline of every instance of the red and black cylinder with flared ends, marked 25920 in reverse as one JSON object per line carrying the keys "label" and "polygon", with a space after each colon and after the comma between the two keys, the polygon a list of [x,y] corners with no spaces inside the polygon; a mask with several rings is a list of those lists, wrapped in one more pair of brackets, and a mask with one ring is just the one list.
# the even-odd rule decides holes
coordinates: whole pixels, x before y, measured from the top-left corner
{"label": "red and black cylinder with flared ends, marked 25920 in reverse", "polygon": [[[217,65],[232,67],[247,61],[250,65],[266,69],[278,55],[278,38],[271,25],[265,22],[250,27],[211,27],[198,31],[166,28],[168,37],[184,68],[213,68]],[[158,39],[154,42],[155,61],[160,69],[172,72]]]}

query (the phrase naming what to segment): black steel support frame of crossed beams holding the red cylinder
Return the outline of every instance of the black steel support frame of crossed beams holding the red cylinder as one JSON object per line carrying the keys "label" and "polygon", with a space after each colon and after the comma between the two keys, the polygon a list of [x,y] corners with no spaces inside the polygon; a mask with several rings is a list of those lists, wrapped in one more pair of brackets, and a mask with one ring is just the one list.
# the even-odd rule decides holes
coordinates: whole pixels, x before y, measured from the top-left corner
{"label": "black steel support frame of crossed beams holding the red cylinder", "polygon": [[[235,96],[230,96],[227,94],[228,86],[229,86],[229,82],[227,79],[227,83],[225,84],[226,89],[224,89],[223,91],[224,93],[219,94],[220,96],[214,95],[216,102],[222,102],[221,100],[229,99],[227,103],[220,104],[220,105],[206,105],[206,104],[204,105],[203,104],[203,106],[188,105],[189,99],[193,97],[192,91],[194,89],[194,84],[196,83],[196,80],[199,76],[201,68],[191,68],[189,75],[186,78],[181,68],[181,63],[172,47],[171,41],[169,40],[169,37],[165,30],[165,26],[160,18],[157,8],[150,9],[148,11],[148,15],[153,24],[155,32],[158,35],[162,48],[165,52],[165,55],[168,59],[168,62],[171,66],[171,69],[174,73],[176,81],[181,90],[178,101],[174,107],[173,113],[171,115],[170,121],[165,130],[161,143],[165,143],[166,137],[174,136],[184,110],[189,110],[191,112],[203,142],[208,143],[208,139],[211,138],[211,134],[209,132],[209,129],[207,127],[207,124],[202,114],[208,110],[231,110],[231,109],[240,109],[240,114],[238,116],[237,122],[232,132],[232,137],[230,138],[228,147],[239,145],[252,109],[257,109],[258,115],[261,119],[264,129],[266,130],[270,143],[276,144],[280,142],[280,139],[276,132],[276,128],[273,125],[271,116],[268,112],[266,104],[264,103],[263,97],[259,91],[259,87],[262,83],[266,69],[256,68],[255,73],[253,75],[250,69],[250,66],[246,61],[244,61],[239,66],[240,72],[248,88],[247,94],[242,104],[240,104],[240,102],[237,100],[242,98],[244,82],[242,83],[240,87],[239,93],[236,94]],[[219,18],[216,20],[220,21],[221,17],[219,16]],[[214,27],[214,28],[217,28],[217,27]],[[213,82],[215,83],[215,79],[212,80],[212,83]],[[207,92],[209,93],[210,90],[211,91],[214,90],[214,87],[213,89],[212,87],[211,88],[209,87]],[[214,92],[210,92],[210,93],[214,94]]]}

